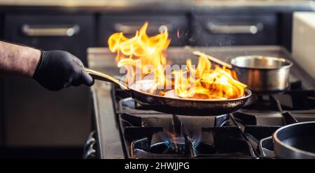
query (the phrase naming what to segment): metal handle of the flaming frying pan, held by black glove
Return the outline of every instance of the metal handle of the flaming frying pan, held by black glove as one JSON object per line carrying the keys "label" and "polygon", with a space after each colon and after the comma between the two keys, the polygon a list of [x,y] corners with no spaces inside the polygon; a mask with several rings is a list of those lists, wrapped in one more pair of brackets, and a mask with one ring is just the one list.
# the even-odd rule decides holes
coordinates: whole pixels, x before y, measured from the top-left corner
{"label": "metal handle of the flaming frying pan, held by black glove", "polygon": [[129,90],[125,83],[121,82],[120,80],[116,80],[114,77],[111,77],[110,75],[107,75],[107,74],[99,72],[99,71],[92,70],[90,68],[83,68],[83,69],[89,75],[91,75],[91,77],[94,80],[102,80],[102,81],[105,81],[105,82],[111,82],[111,83],[114,83],[114,84],[118,84],[120,87],[122,87],[122,89]]}

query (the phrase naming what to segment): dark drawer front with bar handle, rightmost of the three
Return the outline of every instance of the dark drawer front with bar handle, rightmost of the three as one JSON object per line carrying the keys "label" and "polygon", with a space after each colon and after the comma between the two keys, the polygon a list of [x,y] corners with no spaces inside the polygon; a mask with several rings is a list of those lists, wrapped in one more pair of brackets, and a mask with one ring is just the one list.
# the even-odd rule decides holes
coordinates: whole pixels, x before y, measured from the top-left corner
{"label": "dark drawer front with bar handle, rightmost of the three", "polygon": [[276,15],[194,17],[193,40],[199,46],[275,45]]}

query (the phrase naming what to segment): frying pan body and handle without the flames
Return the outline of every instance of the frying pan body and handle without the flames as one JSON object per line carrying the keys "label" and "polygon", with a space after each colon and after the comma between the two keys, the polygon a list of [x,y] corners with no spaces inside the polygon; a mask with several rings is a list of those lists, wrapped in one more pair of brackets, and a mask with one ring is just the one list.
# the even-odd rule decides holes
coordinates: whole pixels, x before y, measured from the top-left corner
{"label": "frying pan body and handle without the flames", "polygon": [[220,114],[228,114],[239,110],[246,103],[246,100],[251,96],[251,91],[245,89],[244,96],[241,98],[228,100],[202,100],[190,98],[170,98],[165,96],[153,95],[134,89],[133,85],[116,80],[114,77],[105,73],[100,73],[89,68],[85,68],[95,80],[102,80],[118,84],[122,89],[128,91],[132,98],[140,105],[144,105],[151,110],[165,112],[168,114],[190,115],[190,116],[216,116]]}

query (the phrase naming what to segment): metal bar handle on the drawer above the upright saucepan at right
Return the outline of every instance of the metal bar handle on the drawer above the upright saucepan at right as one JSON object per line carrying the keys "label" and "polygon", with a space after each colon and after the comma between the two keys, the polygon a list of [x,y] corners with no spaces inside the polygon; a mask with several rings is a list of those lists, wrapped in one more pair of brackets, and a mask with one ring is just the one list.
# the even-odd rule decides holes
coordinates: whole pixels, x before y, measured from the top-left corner
{"label": "metal bar handle on the drawer above the upright saucepan at right", "polygon": [[248,24],[248,25],[218,25],[213,23],[208,23],[207,28],[212,33],[251,33],[256,34],[258,31],[262,31],[263,25],[258,24]]}

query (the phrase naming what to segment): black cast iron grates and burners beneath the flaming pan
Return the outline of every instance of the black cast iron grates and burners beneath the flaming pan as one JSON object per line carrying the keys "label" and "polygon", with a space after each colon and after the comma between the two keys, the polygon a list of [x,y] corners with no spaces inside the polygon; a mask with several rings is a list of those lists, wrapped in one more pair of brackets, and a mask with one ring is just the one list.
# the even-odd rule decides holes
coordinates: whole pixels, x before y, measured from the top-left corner
{"label": "black cast iron grates and burners beneath the flaming pan", "polygon": [[274,158],[276,129],[315,121],[315,91],[303,89],[300,81],[220,116],[156,112],[115,85],[112,91],[127,158]]}

